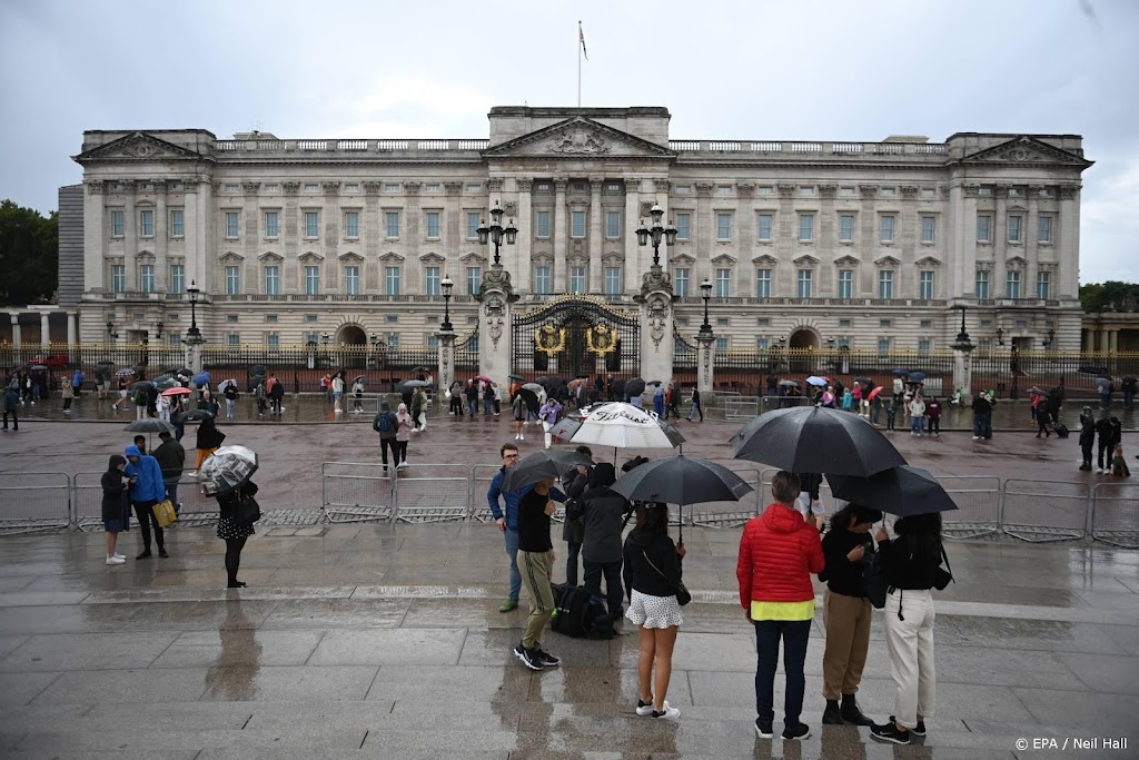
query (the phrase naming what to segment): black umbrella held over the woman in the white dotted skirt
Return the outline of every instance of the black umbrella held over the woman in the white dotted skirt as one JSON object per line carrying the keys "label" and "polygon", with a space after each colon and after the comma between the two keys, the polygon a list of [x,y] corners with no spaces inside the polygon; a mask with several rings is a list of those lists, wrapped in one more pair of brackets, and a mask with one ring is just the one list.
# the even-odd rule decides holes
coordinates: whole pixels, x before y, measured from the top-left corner
{"label": "black umbrella held over the woman in the white dotted skirt", "polygon": [[739,501],[754,489],[723,465],[679,455],[636,467],[612,485],[634,501],[664,501],[680,507],[680,540],[685,539],[685,505]]}

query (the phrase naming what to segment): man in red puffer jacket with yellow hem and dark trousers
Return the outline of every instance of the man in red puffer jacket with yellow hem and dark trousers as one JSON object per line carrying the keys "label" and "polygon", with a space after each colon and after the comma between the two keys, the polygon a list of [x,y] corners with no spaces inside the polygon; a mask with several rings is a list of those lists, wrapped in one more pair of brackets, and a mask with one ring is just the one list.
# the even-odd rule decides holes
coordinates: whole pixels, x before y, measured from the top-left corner
{"label": "man in red puffer jacket with yellow hem and dark trousers", "polygon": [[762,515],[747,521],[739,540],[739,603],[755,626],[755,733],[771,738],[775,722],[775,681],[779,663],[779,640],[782,639],[787,694],[784,702],[785,739],[802,739],[811,735],[800,722],[806,678],[806,641],[814,620],[814,587],[811,575],[822,572],[822,542],[817,522],[805,522],[795,507],[800,482],[794,474],[780,471],[771,480],[776,502]]}

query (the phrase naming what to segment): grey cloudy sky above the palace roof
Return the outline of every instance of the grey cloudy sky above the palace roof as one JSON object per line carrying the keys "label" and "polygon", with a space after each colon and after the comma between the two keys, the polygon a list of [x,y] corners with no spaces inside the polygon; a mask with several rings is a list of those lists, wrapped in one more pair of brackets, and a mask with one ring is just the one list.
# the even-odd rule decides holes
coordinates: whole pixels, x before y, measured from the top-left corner
{"label": "grey cloudy sky above the palace roof", "polygon": [[1139,2],[0,0],[0,198],[85,129],[485,137],[495,105],[666,106],[673,139],[1079,133],[1081,281],[1139,281]]}

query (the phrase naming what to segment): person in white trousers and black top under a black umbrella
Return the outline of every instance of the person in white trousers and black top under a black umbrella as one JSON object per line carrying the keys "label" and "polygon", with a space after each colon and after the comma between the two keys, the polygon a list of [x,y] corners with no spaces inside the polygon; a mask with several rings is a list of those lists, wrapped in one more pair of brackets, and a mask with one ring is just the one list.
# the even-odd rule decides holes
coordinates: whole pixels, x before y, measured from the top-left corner
{"label": "person in white trousers and black top under a black umbrella", "polygon": [[945,553],[939,513],[902,517],[894,523],[894,532],[898,538],[893,540],[885,529],[879,528],[875,536],[891,589],[883,612],[894,679],[894,714],[888,722],[871,726],[870,734],[885,742],[909,744],[911,735],[926,735],[925,720],[935,709],[936,613],[931,589],[944,588],[952,575],[941,567]]}

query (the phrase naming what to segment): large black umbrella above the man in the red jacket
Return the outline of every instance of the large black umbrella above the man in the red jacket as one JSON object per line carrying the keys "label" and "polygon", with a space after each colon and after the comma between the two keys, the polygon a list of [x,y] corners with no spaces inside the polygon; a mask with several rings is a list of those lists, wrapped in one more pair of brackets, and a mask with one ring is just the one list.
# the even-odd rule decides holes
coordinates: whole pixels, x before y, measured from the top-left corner
{"label": "large black umbrella above the man in the red jacket", "polygon": [[906,464],[866,419],[823,407],[769,411],[744,425],[731,443],[737,459],[793,473],[868,477]]}

